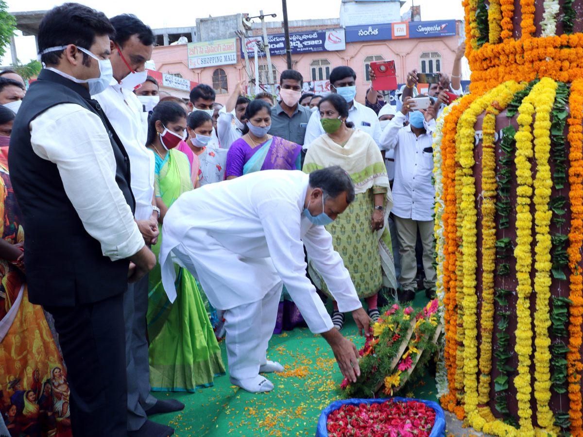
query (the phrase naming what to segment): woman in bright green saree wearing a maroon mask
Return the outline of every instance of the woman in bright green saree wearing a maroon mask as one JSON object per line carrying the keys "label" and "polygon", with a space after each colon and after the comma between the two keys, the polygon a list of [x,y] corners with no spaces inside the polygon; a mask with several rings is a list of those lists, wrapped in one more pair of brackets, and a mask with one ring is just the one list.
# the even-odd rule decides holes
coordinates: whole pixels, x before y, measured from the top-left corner
{"label": "woman in bright green saree wearing a maroon mask", "polygon": [[[184,139],[186,112],[177,103],[161,102],[148,122],[147,147],[156,156],[154,191],[160,208],[160,224],[178,196],[190,191],[191,168],[188,157],[175,149]],[[160,234],[152,251],[160,252]],[[150,339],[150,385],[155,391],[194,392],[213,385],[224,375],[219,344],[206,314],[196,280],[188,270],[175,264],[177,298],[168,300],[161,283],[160,265],[149,276],[147,311]]]}

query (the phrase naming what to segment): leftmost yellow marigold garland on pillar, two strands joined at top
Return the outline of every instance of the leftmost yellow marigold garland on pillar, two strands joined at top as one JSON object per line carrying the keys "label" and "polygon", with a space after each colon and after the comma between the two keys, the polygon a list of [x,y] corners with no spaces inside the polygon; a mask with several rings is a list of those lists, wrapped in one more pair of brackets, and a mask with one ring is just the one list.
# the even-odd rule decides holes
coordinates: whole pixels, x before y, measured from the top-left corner
{"label": "leftmost yellow marigold garland on pillar, two strands joined at top", "polygon": [[[463,189],[461,210],[463,212],[462,247],[463,247],[463,329],[464,337],[464,388],[465,412],[469,423],[480,431],[487,422],[495,421],[490,408],[489,383],[491,371],[491,336],[494,328],[494,259],[496,257],[496,230],[494,226],[494,203],[491,198],[496,195],[496,160],[494,156],[494,132],[496,115],[505,108],[514,94],[523,89],[525,84],[504,83],[483,97],[477,98],[465,111],[458,122],[456,143],[459,143],[459,161],[463,168]],[[490,114],[484,119],[482,150],[482,229],[483,229],[483,303],[482,303],[482,344],[480,344],[480,385],[477,385],[477,293],[476,293],[476,207],[475,179],[472,168],[474,135],[473,126],[477,115],[490,107]],[[482,405],[479,407],[479,405]]]}

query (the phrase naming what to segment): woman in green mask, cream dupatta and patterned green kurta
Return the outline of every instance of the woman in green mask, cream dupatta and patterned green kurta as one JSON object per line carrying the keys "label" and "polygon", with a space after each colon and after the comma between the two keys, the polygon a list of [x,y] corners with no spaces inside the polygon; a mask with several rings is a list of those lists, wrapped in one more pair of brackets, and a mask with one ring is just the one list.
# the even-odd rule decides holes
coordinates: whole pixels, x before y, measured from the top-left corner
{"label": "woman in green mask, cream dupatta and patterned green kurta", "polygon": [[[352,178],[356,198],[345,212],[326,225],[332,234],[334,249],[340,253],[350,272],[356,292],[368,304],[368,315],[377,320],[377,294],[382,286],[396,288],[395,263],[387,217],[393,206],[387,168],[381,151],[368,133],[352,129],[346,122],[348,105],[338,94],[319,103],[322,128],[326,133],[311,143],[303,170],[339,165]],[[314,274],[312,274],[314,273]],[[311,269],[318,288],[333,298],[321,276]],[[339,330],[344,315],[334,302],[332,323]]]}

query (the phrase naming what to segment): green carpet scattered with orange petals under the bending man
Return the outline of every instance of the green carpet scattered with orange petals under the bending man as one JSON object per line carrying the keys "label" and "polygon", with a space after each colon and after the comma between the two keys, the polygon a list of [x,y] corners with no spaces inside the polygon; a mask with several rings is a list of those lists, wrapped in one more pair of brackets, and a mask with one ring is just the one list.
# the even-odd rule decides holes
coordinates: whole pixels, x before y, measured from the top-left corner
{"label": "green carpet scattered with orange petals under the bending man", "polygon": [[[417,293],[413,306],[426,304],[424,293]],[[357,348],[363,346],[364,339],[358,336],[350,314],[346,315],[342,334]],[[220,347],[226,365],[224,340]],[[245,392],[231,385],[227,373],[215,378],[213,387],[196,393],[154,392],[159,399],[182,401],[185,408],[151,419],[173,427],[177,437],[314,436],[321,410],[336,399],[335,386],[342,381],[328,343],[307,328],[296,328],[272,337],[268,358],[279,361],[286,369],[280,375],[266,375],[275,385],[271,392]],[[435,381],[426,373],[407,393],[399,395],[436,400]]]}

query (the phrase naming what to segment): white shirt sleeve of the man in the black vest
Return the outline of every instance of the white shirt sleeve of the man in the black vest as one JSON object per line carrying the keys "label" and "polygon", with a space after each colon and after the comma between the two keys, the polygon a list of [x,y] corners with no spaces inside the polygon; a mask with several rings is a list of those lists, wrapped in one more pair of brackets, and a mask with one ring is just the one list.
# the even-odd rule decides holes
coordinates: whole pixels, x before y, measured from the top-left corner
{"label": "white shirt sleeve of the man in the black vest", "polygon": [[138,252],[144,241],[115,182],[115,157],[101,119],[66,103],[43,112],[29,128],[34,153],[57,164],[66,195],[103,255],[115,261]]}

